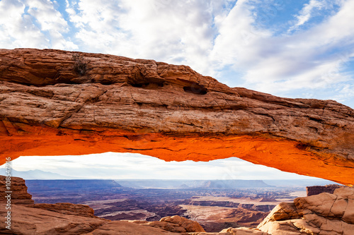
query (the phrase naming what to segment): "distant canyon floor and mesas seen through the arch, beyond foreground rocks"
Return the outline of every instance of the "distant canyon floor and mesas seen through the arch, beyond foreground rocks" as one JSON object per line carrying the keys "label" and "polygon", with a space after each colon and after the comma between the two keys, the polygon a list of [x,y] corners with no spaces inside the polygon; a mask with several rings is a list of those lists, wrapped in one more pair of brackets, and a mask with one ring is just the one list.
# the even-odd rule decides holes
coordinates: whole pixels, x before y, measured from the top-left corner
{"label": "distant canyon floor and mesas seen through the arch, beyond foreground rocks", "polygon": [[304,186],[247,180],[27,180],[26,185],[35,203],[89,205],[94,215],[110,220],[156,221],[178,215],[205,231],[256,227],[279,203],[306,195]]}

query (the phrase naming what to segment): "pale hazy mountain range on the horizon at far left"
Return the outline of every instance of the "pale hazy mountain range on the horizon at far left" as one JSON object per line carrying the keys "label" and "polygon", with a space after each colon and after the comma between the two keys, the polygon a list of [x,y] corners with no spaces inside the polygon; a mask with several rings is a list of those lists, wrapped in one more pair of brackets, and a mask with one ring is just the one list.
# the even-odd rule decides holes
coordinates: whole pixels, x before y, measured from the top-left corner
{"label": "pale hazy mountain range on the horizon at far left", "polygon": [[[0,169],[0,174],[4,175],[5,169]],[[15,169],[12,169],[11,176],[21,177],[23,179],[82,179],[72,176],[62,176],[61,174],[41,170],[16,171]]]}

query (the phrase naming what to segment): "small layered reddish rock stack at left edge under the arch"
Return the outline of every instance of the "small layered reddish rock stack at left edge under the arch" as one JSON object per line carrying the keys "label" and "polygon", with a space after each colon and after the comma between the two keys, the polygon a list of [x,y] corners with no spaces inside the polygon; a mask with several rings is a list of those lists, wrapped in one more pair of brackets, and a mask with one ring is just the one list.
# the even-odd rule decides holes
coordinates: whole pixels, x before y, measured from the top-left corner
{"label": "small layered reddish rock stack at left edge under the arch", "polygon": [[11,203],[30,205],[33,204],[32,195],[27,193],[25,180],[20,177],[11,177],[10,188],[6,189],[6,176],[0,176],[0,203],[5,203],[6,191],[11,191]]}

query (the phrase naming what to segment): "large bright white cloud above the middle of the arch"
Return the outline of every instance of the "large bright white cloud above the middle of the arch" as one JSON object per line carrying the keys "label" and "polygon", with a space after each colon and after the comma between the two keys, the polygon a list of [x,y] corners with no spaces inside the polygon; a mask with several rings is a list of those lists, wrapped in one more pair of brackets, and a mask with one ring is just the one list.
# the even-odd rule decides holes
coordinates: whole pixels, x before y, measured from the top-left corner
{"label": "large bright white cloud above the middle of the arch", "polygon": [[217,34],[220,1],[91,1],[67,10],[85,48],[96,52],[188,64],[205,73]]}

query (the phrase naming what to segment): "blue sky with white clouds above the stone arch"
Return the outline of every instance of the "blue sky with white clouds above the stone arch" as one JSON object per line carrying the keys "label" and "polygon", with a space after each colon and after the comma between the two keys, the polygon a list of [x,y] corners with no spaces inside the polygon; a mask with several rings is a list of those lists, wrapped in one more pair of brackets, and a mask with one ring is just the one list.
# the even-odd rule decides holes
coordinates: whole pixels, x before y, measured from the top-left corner
{"label": "blue sky with white clouds above the stone arch", "polygon": [[0,0],[0,47],[185,64],[229,86],[354,107],[353,0]]}

